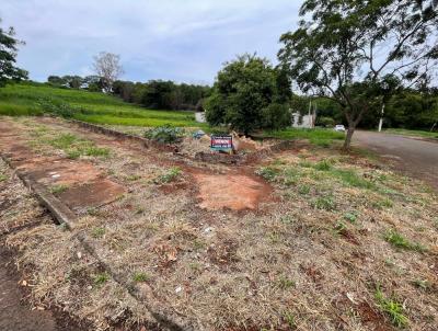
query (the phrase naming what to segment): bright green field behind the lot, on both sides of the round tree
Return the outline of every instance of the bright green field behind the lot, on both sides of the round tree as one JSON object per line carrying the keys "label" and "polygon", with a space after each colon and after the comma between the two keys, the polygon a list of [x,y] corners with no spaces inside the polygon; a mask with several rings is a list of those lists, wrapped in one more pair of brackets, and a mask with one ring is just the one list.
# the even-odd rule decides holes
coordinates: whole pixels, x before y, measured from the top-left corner
{"label": "bright green field behind the lot, on both sides of the round tree", "polygon": [[[68,107],[74,110],[73,118],[95,124],[141,127],[163,125],[201,127],[206,132],[220,129],[209,128],[206,124],[197,123],[194,112],[148,110],[99,92],[54,88],[35,82],[9,84],[0,88],[0,115],[43,115],[48,110],[42,105],[42,100],[49,100],[54,104],[68,105]],[[310,142],[319,146],[328,146],[333,140],[344,139],[344,134],[331,129],[288,128],[265,133],[264,136],[279,139],[309,139]]]}

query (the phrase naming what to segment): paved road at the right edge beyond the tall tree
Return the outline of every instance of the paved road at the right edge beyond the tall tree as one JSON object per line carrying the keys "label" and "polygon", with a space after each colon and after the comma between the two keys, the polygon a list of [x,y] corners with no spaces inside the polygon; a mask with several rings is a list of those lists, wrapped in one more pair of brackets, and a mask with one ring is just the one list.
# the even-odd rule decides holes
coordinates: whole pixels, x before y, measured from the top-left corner
{"label": "paved road at the right edge beyond the tall tree", "polygon": [[376,151],[393,166],[438,190],[438,141],[372,132],[356,132],[353,142]]}

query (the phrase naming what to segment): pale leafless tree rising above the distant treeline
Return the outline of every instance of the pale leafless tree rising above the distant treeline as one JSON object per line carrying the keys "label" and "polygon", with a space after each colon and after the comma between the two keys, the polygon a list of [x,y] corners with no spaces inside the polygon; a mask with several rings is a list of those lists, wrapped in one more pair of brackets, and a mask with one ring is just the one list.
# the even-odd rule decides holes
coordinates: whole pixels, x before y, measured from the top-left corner
{"label": "pale leafless tree rising above the distant treeline", "polygon": [[101,52],[94,57],[93,69],[101,77],[103,89],[107,93],[113,91],[113,83],[124,72],[120,56],[106,52]]}

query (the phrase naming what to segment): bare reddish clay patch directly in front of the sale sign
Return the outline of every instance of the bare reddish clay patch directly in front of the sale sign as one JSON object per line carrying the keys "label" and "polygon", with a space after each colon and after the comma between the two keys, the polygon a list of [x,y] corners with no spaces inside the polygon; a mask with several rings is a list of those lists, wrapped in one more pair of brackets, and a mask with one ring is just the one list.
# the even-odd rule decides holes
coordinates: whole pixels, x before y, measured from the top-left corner
{"label": "bare reddish clay patch directly in front of the sale sign", "polygon": [[266,198],[272,189],[255,178],[239,174],[193,174],[199,185],[199,207],[210,210],[229,208],[232,210],[255,209]]}

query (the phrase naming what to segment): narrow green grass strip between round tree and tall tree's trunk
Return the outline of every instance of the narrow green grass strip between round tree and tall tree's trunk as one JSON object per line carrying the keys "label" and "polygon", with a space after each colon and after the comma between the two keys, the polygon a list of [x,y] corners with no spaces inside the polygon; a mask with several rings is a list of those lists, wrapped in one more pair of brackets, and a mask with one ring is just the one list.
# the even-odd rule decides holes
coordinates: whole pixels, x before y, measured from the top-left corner
{"label": "narrow green grass strip between round tree and tall tree's trunk", "polygon": [[333,129],[323,128],[287,128],[280,132],[270,132],[265,134],[266,137],[279,138],[279,139],[309,139],[313,145],[321,147],[328,147],[335,140],[345,139],[345,134],[337,133]]}

